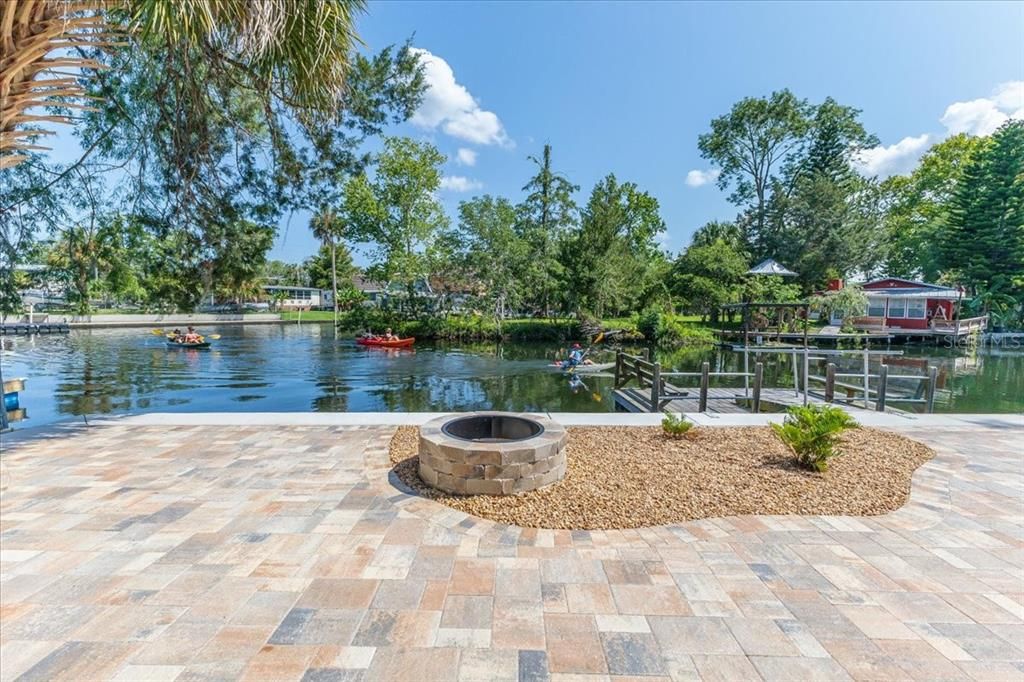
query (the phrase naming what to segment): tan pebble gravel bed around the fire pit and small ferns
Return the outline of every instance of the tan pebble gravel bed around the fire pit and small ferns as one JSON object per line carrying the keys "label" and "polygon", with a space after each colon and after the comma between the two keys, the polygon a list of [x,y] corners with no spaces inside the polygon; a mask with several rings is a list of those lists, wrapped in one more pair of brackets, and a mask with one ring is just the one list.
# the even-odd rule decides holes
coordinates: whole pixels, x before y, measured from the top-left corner
{"label": "tan pebble gravel bed around the fire pit and small ferns", "polygon": [[569,428],[561,482],[516,496],[459,497],[417,473],[419,433],[391,440],[395,473],[417,494],[468,514],[526,527],[598,529],[664,525],[739,514],[870,516],[898,509],[914,469],[934,453],[909,438],[857,428],[828,471],[797,467],[767,427],[695,428],[670,438],[660,427]]}

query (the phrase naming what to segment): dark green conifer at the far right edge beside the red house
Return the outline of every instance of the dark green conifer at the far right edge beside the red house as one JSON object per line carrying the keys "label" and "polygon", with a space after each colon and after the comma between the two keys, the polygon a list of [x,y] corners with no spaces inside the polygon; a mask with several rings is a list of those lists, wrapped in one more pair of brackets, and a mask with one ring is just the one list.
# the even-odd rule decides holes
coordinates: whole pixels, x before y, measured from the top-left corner
{"label": "dark green conifer at the far right edge beside the red house", "polygon": [[956,279],[1024,302],[1024,121],[1005,123],[968,163],[944,233]]}

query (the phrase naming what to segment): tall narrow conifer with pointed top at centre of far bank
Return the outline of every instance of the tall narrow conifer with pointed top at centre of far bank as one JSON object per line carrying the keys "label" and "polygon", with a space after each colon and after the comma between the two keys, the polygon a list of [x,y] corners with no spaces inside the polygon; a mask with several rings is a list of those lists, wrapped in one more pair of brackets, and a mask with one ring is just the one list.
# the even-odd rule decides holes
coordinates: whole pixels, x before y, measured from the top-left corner
{"label": "tall narrow conifer with pointed top at centre of far bank", "polygon": [[526,199],[519,206],[520,236],[529,245],[528,270],[523,272],[527,303],[550,315],[551,304],[561,280],[558,251],[565,231],[577,221],[572,194],[580,187],[555,172],[551,145],[545,144],[541,158],[529,157],[537,174],[523,185]]}

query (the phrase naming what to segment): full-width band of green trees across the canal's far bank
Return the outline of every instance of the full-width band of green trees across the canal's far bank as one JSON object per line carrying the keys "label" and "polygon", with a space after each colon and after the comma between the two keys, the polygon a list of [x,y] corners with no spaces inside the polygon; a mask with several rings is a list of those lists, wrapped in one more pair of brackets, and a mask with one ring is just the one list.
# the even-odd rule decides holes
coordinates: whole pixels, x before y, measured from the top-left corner
{"label": "full-width band of green trees across the canal's far bank", "polygon": [[[244,301],[269,278],[336,291],[362,252],[370,280],[406,296],[400,313],[458,307],[510,316],[615,317],[678,311],[714,317],[742,298],[795,300],[828,280],[892,275],[963,286],[979,310],[1024,304],[1024,123],[955,135],[907,175],[865,177],[878,144],[860,112],[788,90],[748,97],[697,140],[736,206],[678,254],[662,247],[656,198],[608,173],[584,193],[551,145],[521,196],[437,199],[446,162],[423,140],[384,136],[412,116],[423,79],[409,46],[352,53],[343,105],[302,108],[200,47],[92,52],[109,69],[76,129],[86,158],[57,166],[28,151],[5,170],[0,257],[42,262],[86,311],[90,301],[193,309],[206,294]],[[166,63],[187,63],[168,70]],[[369,154],[367,141],[382,140]],[[282,219],[312,212],[321,251],[299,270],[267,261]],[[749,278],[774,258],[793,281]],[[0,305],[18,307],[28,275],[0,268]],[[419,284],[435,290],[423,300]]]}

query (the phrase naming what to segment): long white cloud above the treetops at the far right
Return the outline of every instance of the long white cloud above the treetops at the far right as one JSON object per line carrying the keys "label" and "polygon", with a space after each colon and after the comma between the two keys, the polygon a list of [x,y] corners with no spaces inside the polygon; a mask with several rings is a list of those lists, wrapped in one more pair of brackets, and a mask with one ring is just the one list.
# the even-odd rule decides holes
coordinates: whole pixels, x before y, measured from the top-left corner
{"label": "long white cloud above the treetops at the far right", "polygon": [[867,176],[888,177],[909,173],[935,142],[958,133],[990,135],[1010,119],[1024,119],[1024,81],[1000,83],[990,97],[954,101],[946,106],[939,119],[945,132],[904,137],[889,146],[864,150],[856,166]]}

